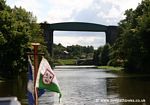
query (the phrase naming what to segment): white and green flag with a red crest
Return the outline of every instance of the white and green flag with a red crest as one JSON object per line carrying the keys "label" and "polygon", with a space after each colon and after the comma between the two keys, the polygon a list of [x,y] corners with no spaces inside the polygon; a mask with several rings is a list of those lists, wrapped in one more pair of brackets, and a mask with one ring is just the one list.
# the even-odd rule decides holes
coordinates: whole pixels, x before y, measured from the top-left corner
{"label": "white and green flag with a red crest", "polygon": [[59,99],[61,98],[61,91],[56,79],[56,75],[51,69],[48,61],[43,57],[39,66],[37,78],[36,78],[36,87],[39,89],[46,89],[50,92],[59,93]]}

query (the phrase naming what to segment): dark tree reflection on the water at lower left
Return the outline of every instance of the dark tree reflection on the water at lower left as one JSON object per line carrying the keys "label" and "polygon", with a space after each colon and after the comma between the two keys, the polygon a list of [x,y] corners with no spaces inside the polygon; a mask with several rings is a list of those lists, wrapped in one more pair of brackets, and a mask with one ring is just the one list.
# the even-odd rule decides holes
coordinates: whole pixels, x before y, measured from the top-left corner
{"label": "dark tree reflection on the water at lower left", "polygon": [[17,97],[20,101],[26,99],[26,73],[13,80],[0,82],[0,97]]}

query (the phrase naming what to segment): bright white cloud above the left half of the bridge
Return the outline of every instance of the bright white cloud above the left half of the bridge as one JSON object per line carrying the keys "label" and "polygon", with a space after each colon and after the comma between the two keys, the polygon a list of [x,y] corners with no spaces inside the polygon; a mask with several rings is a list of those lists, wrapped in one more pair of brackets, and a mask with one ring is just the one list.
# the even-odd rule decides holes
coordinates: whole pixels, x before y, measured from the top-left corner
{"label": "bright white cloud above the left half of the bridge", "polygon": [[86,0],[86,2],[81,2],[81,0],[51,0],[49,4],[52,5],[53,9],[48,11],[46,20],[50,23],[64,22],[64,21],[74,21],[73,17],[79,11],[88,8],[93,0]]}

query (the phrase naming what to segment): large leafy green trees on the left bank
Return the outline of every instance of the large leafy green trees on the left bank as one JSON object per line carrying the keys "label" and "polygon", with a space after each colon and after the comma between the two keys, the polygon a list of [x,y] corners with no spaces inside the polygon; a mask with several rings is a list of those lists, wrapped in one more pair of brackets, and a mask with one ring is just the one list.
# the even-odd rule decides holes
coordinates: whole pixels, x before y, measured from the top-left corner
{"label": "large leafy green trees on the left bank", "polygon": [[26,52],[39,42],[47,52],[36,17],[21,7],[10,8],[0,1],[0,72],[12,75],[27,67]]}

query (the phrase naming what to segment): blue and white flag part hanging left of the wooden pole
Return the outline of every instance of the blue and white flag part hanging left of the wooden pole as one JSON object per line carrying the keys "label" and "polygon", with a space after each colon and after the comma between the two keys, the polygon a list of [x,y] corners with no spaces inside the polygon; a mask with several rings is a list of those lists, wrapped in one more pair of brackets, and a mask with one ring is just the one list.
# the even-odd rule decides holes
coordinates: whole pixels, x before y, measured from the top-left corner
{"label": "blue and white flag part hanging left of the wooden pole", "polygon": [[28,96],[28,104],[34,105],[34,86],[33,86],[33,66],[28,57],[28,84],[27,84],[27,96]]}

